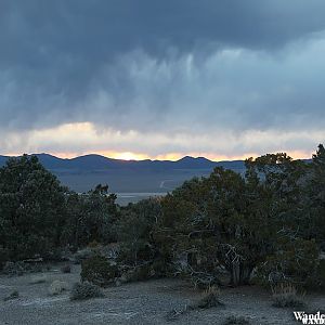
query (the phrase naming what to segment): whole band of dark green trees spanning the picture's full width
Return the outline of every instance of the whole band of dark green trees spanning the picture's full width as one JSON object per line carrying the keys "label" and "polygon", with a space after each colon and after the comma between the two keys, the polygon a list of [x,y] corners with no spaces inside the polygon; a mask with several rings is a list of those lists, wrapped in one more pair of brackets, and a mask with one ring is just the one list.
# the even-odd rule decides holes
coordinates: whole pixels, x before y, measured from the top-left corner
{"label": "whole band of dark green trees spanning the picture's full width", "polygon": [[127,207],[107,186],[69,191],[36,157],[0,169],[2,263],[90,243],[119,243],[114,276],[127,265],[140,278],[179,275],[196,285],[222,284],[225,274],[234,286],[252,277],[324,285],[324,146],[311,162],[283,153],[250,158],[245,177],[216,168]]}

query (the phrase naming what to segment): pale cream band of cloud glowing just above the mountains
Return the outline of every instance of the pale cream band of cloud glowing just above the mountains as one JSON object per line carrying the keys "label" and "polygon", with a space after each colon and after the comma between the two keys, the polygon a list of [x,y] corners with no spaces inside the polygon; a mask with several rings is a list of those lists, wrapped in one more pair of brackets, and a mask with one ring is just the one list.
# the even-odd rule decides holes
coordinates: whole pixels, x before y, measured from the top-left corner
{"label": "pale cream band of cloud glowing just above the mountains", "polygon": [[0,146],[5,147],[5,153],[11,155],[21,154],[17,148],[24,148],[27,153],[52,152],[62,157],[95,152],[116,158],[131,156],[139,159],[178,159],[190,154],[221,160],[258,156],[261,148],[264,152],[288,152],[295,158],[311,157],[315,141],[324,139],[325,132],[268,130],[240,134],[231,131],[214,131],[209,134],[142,133],[114,129],[98,131],[94,125],[81,122],[23,133],[10,132],[5,136],[0,132]]}

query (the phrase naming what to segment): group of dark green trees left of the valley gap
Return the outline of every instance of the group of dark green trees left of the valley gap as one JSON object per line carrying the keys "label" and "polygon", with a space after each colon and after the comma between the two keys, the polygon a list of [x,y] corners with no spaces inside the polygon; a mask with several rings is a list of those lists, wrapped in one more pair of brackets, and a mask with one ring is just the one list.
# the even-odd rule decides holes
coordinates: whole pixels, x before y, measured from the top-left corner
{"label": "group of dark green trees left of the valley gap", "polygon": [[36,156],[11,158],[0,168],[0,258],[55,258],[93,240],[116,240],[116,196],[98,185],[79,195],[62,186]]}

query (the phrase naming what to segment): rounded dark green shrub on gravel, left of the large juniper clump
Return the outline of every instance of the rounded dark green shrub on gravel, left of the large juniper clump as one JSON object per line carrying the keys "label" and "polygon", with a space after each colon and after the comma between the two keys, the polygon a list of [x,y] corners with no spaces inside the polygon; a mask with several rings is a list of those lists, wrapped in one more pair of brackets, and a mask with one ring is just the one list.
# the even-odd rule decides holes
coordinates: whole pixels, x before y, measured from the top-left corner
{"label": "rounded dark green shrub on gravel, left of the large juniper clump", "polygon": [[81,281],[88,281],[99,286],[106,286],[118,276],[118,268],[102,256],[94,256],[81,263]]}

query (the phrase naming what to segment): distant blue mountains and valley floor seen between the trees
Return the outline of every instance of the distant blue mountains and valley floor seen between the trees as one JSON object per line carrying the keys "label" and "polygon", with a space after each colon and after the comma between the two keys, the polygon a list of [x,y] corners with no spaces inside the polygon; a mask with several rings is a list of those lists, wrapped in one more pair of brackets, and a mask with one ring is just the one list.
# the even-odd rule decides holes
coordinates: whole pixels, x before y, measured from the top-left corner
{"label": "distant blue mountains and valley floor seen between the trees", "polygon": [[[207,177],[217,166],[243,172],[243,160],[211,161],[185,156],[180,160],[120,160],[100,155],[65,159],[36,154],[40,162],[72,190],[88,192],[96,184],[108,184],[121,204],[153,195],[164,195],[193,177]],[[0,166],[9,159],[0,156]]]}

